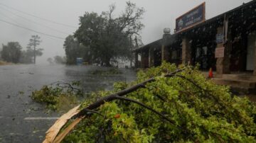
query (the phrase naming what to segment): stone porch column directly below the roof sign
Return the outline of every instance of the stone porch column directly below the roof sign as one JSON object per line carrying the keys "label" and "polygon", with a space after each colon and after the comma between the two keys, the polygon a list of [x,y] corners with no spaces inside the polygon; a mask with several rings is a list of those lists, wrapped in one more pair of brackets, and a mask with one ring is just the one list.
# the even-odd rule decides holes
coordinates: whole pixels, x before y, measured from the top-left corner
{"label": "stone porch column directly below the roof sign", "polygon": [[182,39],[182,64],[191,62],[191,42],[188,38]]}

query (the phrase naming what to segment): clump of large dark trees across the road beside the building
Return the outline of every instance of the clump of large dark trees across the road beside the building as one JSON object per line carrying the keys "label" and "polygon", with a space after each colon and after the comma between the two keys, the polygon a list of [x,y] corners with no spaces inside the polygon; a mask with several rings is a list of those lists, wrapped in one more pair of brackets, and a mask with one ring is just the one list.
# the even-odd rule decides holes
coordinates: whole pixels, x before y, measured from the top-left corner
{"label": "clump of large dark trees across the road beside the building", "polygon": [[110,5],[109,11],[85,12],[80,16],[78,30],[65,38],[63,45],[68,64],[75,64],[77,57],[105,66],[118,59],[132,59],[132,48],[142,45],[144,8],[127,1],[119,16],[114,16],[115,9]]}

